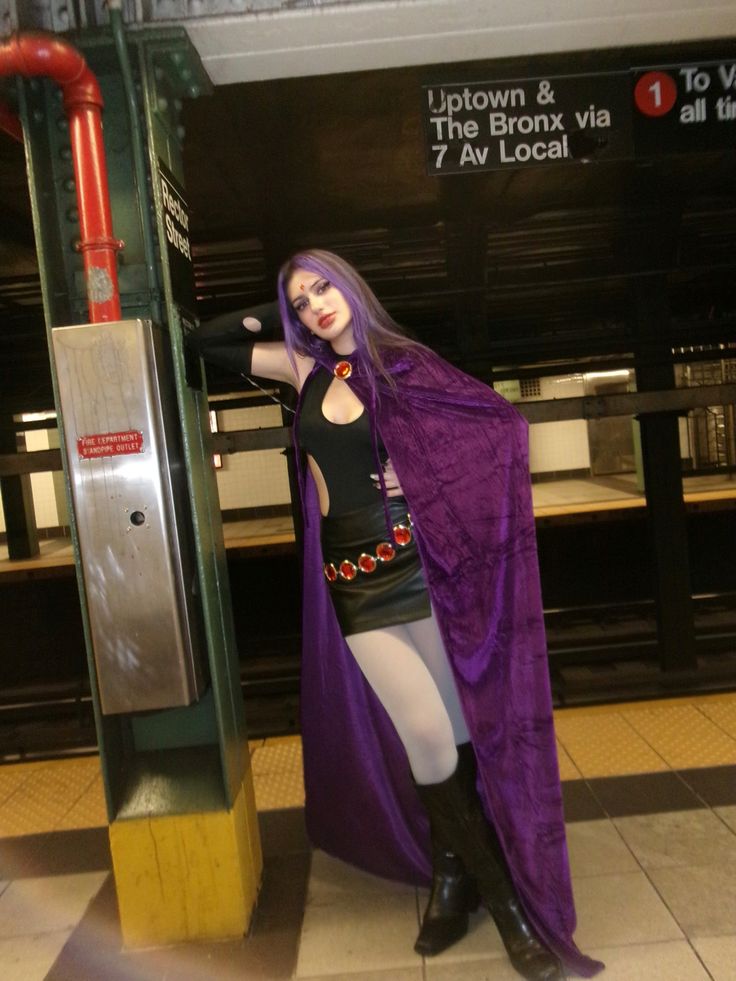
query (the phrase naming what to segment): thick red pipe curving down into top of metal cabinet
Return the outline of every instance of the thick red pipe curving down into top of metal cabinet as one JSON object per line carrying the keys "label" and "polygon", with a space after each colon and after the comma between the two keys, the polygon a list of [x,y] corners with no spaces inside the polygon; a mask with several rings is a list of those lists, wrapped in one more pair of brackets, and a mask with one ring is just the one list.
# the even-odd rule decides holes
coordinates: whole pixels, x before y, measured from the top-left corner
{"label": "thick red pipe curving down into top of metal cabinet", "polygon": [[113,237],[102,94],[82,55],[49,34],[17,34],[0,44],[0,75],[44,76],[64,95],[77,189],[82,253],[91,323],[121,319],[116,253],[123,243]]}

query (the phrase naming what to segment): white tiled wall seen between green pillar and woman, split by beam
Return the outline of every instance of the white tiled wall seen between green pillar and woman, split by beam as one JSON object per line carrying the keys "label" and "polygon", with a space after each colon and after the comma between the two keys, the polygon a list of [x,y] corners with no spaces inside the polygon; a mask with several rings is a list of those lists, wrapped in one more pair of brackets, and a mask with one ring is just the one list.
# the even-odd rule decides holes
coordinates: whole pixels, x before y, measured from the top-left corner
{"label": "white tiled wall seen between green pillar and woman, split by beam", "polygon": [[[226,409],[218,413],[218,421],[221,432],[280,426],[281,410],[277,405]],[[223,456],[222,469],[217,471],[217,487],[223,510],[288,504],[291,501],[286,457],[281,450],[256,450]]]}

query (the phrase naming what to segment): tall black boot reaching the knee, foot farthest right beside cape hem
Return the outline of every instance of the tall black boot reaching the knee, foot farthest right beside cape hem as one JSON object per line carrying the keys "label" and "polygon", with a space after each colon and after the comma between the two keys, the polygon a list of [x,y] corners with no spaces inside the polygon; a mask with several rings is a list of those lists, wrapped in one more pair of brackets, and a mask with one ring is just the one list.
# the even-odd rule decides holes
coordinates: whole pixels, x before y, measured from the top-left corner
{"label": "tall black boot reaching the knee, foot farthest right beside cape hem", "polygon": [[536,936],[511,881],[495,829],[486,820],[476,790],[472,747],[460,753],[457,769],[442,783],[417,786],[438,834],[474,876],[514,968],[527,981],[562,981],[559,959]]}

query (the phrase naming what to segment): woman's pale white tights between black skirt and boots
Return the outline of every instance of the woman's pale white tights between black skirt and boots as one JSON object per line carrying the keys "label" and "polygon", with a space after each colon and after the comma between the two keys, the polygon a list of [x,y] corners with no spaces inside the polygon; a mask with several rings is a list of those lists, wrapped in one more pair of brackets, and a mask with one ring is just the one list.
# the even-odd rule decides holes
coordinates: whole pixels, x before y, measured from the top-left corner
{"label": "woman's pale white tights between black skirt and boots", "polygon": [[417,783],[440,783],[469,739],[434,615],[345,638],[396,727]]}

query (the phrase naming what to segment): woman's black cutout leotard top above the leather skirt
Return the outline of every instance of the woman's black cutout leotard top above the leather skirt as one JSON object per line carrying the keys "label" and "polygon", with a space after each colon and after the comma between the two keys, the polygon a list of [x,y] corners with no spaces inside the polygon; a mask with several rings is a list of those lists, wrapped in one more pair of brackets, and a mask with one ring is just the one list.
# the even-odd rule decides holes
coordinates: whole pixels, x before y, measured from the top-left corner
{"label": "woman's black cutout leotard top above the leather skirt", "polygon": [[[368,412],[353,422],[330,422],[322,412],[333,376],[320,368],[306,382],[299,416],[299,444],[314,457],[330,495],[328,514],[334,517],[380,501],[380,489],[371,474],[378,466],[373,455]],[[378,452],[385,463],[386,450],[379,439]]]}

